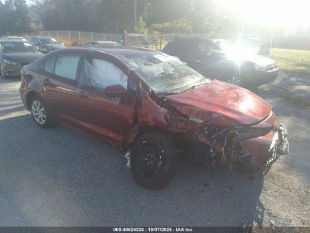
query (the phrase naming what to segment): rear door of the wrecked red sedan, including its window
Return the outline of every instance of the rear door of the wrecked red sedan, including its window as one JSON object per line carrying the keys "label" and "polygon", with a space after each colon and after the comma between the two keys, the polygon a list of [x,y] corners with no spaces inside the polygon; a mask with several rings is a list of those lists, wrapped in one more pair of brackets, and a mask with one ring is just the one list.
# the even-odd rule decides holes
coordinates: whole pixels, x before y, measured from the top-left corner
{"label": "rear door of the wrecked red sedan, including its window", "polygon": [[53,120],[67,126],[76,122],[76,90],[81,53],[65,52],[48,58],[39,67],[41,84]]}

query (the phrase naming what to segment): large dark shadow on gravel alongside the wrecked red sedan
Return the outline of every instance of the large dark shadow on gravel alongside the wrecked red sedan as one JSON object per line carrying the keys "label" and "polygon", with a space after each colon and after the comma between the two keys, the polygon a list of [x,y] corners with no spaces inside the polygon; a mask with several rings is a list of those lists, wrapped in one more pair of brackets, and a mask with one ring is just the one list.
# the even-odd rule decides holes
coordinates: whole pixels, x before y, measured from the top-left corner
{"label": "large dark shadow on gravel alongside the wrecked red sedan", "polygon": [[[263,180],[179,166],[171,185],[136,184],[118,150],[30,115],[0,120],[1,226],[263,225]],[[12,150],[14,148],[14,150]]]}

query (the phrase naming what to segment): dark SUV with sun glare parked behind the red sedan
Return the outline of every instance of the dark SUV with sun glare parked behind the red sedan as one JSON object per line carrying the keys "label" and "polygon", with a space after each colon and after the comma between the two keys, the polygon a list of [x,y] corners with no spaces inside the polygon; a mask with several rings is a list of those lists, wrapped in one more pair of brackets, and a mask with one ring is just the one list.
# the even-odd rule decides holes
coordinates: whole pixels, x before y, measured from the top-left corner
{"label": "dark SUV with sun glare parked behind the red sedan", "polygon": [[177,38],[162,51],[211,79],[248,88],[274,81],[279,72],[274,60],[249,55],[222,39]]}

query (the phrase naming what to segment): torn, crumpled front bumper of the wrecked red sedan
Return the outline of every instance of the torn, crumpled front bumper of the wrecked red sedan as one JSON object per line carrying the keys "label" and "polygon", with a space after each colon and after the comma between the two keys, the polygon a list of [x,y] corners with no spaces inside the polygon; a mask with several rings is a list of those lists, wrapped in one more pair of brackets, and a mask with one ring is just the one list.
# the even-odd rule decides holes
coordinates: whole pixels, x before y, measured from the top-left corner
{"label": "torn, crumpled front bumper of the wrecked red sedan", "polygon": [[253,138],[240,143],[242,149],[251,154],[250,165],[254,168],[254,177],[267,174],[270,167],[283,154],[289,153],[289,141],[284,125],[279,125],[277,132]]}

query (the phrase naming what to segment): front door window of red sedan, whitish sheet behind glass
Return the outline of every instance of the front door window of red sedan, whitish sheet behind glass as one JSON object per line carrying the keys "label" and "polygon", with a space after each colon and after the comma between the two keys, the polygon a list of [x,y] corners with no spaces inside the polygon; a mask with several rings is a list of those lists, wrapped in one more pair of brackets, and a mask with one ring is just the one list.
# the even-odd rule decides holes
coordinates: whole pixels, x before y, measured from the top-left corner
{"label": "front door window of red sedan, whitish sheet behind glass", "polygon": [[128,76],[114,64],[98,58],[88,58],[84,60],[82,67],[79,85],[105,89],[107,86],[120,84],[127,90]]}

